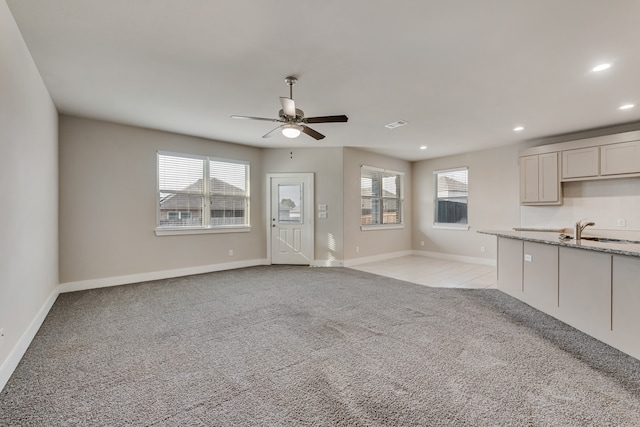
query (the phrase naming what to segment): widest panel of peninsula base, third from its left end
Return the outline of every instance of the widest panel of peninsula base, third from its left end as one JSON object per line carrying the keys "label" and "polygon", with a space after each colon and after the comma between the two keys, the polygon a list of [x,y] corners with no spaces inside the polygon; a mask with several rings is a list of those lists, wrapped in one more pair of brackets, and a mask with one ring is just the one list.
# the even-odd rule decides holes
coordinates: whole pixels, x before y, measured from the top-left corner
{"label": "widest panel of peninsula base, third from its left end", "polygon": [[559,249],[559,316],[599,340],[611,332],[611,255]]}

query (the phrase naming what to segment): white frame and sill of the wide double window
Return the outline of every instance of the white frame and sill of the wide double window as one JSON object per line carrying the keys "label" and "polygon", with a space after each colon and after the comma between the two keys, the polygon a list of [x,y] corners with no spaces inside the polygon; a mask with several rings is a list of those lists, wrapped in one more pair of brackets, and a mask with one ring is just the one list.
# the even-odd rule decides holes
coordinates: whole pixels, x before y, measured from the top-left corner
{"label": "white frame and sill of the wide double window", "polygon": [[[202,213],[202,225],[186,225],[186,226],[161,226],[161,188],[160,188],[160,157],[176,157],[185,159],[195,159],[202,161],[202,189],[197,194],[202,197],[202,204],[200,211]],[[211,162],[227,163],[227,164],[240,164],[245,167],[245,190],[244,196],[236,196],[244,198],[244,223],[243,224],[212,224],[212,211],[211,200],[215,197],[212,191],[211,185]],[[251,231],[251,193],[250,193],[250,178],[251,178],[251,164],[244,160],[225,159],[220,157],[202,156],[196,154],[176,153],[170,151],[157,151],[156,152],[156,225],[155,234],[157,236],[174,236],[182,234],[209,234],[209,233],[242,233]],[[179,191],[176,194],[180,194]],[[188,194],[187,192],[183,194]],[[183,211],[184,209],[179,209]]]}

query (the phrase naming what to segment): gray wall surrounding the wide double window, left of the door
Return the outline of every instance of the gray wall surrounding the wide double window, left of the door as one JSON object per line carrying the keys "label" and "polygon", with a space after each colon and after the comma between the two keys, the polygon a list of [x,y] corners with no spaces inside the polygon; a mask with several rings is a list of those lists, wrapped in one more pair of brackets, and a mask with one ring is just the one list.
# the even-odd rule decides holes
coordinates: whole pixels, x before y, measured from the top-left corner
{"label": "gray wall surrounding the wide double window, left of the door", "polygon": [[[266,257],[260,149],[69,116],[59,145],[61,283]],[[249,161],[251,232],[156,236],[157,151]]]}

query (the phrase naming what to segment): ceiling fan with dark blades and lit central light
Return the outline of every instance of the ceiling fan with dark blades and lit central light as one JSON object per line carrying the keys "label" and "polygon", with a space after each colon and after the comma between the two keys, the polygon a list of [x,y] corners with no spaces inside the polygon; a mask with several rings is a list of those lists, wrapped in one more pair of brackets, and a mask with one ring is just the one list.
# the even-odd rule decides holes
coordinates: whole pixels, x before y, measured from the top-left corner
{"label": "ceiling fan with dark blades and lit central light", "polygon": [[296,103],[293,101],[293,85],[298,82],[298,79],[292,76],[288,76],[284,79],[285,83],[289,86],[289,97],[280,97],[280,104],[282,109],[278,113],[279,119],[268,119],[264,117],[250,117],[250,116],[231,116],[234,119],[247,119],[247,120],[264,120],[267,122],[282,123],[277,128],[267,132],[262,137],[270,138],[277,133],[278,130],[282,132],[287,138],[297,138],[300,133],[306,133],[316,140],[324,138],[324,135],[318,131],[311,129],[307,124],[309,123],[335,123],[346,122],[349,120],[347,116],[322,116],[322,117],[305,117],[304,111],[296,108]]}

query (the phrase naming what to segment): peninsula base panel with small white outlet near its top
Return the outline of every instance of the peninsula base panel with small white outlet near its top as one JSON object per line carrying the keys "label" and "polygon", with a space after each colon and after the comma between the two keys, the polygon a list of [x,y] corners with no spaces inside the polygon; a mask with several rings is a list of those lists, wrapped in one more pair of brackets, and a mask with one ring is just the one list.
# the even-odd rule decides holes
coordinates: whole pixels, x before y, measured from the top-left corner
{"label": "peninsula base panel with small white outlet near its top", "polygon": [[558,246],[524,242],[523,301],[545,313],[558,309]]}

